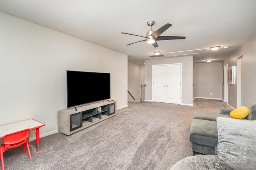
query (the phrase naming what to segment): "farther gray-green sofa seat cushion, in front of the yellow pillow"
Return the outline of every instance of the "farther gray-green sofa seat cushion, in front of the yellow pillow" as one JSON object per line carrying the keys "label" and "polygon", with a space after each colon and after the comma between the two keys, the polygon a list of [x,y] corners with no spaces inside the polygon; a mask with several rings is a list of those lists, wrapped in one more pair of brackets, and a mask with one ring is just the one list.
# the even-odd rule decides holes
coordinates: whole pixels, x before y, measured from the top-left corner
{"label": "farther gray-green sofa seat cushion, in front of the yellow pillow", "polygon": [[230,117],[230,115],[221,115],[220,113],[213,112],[213,111],[196,110],[194,112],[193,119],[204,119],[204,120],[216,121],[217,116]]}

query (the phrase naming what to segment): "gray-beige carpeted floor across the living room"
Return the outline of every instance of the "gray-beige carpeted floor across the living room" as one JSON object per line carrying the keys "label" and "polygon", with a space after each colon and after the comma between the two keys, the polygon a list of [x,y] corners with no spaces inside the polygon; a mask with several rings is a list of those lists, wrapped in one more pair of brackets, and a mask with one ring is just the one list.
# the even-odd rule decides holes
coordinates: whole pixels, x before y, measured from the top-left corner
{"label": "gray-beige carpeted floor across the living room", "polygon": [[6,170],[168,170],[192,156],[190,122],[196,109],[231,109],[220,100],[196,99],[194,106],[128,102],[117,115],[72,135],[30,143],[32,160],[22,147],[6,150]]}

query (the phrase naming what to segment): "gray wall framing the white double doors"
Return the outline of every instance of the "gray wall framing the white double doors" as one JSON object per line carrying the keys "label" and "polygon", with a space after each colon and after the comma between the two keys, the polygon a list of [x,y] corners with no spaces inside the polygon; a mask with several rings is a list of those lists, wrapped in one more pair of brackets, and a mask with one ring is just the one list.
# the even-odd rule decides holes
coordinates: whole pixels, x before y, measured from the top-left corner
{"label": "gray wall framing the white double doors", "polygon": [[182,63],[182,104],[193,105],[193,57],[145,60],[146,100],[152,101],[152,65]]}

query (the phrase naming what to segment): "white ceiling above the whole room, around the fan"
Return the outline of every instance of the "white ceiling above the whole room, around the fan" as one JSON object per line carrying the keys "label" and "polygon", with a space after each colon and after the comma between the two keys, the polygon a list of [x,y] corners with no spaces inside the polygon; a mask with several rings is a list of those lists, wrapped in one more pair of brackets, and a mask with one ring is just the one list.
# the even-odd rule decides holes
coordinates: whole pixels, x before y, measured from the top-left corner
{"label": "white ceiling above the whole room, around the fan", "polygon": [[[154,51],[166,53],[205,49],[194,55],[195,63],[223,61],[256,35],[255,0],[0,0],[0,11],[60,31],[84,41],[128,55],[128,61],[143,64]],[[154,20],[156,31],[172,24],[162,36],[186,39],[146,41]],[[220,46],[218,51],[210,47]],[[228,49],[223,49],[229,46]]]}

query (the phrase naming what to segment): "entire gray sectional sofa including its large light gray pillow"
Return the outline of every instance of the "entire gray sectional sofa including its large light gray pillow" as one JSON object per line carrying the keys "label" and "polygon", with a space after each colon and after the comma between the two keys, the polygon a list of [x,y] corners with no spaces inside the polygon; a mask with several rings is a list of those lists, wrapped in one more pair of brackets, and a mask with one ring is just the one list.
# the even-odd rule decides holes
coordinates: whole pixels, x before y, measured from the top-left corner
{"label": "entire gray sectional sofa including its large light gray pillow", "polygon": [[170,170],[255,170],[256,105],[244,120],[229,116],[232,110],[194,112],[190,128],[192,149],[202,154],[186,157]]}

